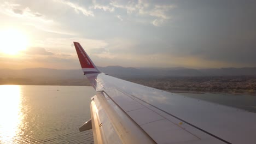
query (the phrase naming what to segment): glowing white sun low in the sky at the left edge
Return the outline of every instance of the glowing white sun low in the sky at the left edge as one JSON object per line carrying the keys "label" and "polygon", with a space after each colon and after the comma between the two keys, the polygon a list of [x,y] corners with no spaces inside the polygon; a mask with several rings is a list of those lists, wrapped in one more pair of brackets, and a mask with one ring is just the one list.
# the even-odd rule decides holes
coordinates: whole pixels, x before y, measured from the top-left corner
{"label": "glowing white sun low in the sky at the left edge", "polygon": [[16,29],[5,29],[0,31],[0,52],[8,55],[25,50],[28,46],[26,34]]}

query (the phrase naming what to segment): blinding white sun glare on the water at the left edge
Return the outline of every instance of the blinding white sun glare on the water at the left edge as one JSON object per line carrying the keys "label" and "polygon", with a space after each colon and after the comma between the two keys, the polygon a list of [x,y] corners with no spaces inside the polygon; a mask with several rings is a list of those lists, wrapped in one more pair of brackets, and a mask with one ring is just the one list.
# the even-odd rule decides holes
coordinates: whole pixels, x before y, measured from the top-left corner
{"label": "blinding white sun glare on the water at the left edge", "polygon": [[0,143],[15,143],[23,119],[20,86],[0,86],[0,116]]}

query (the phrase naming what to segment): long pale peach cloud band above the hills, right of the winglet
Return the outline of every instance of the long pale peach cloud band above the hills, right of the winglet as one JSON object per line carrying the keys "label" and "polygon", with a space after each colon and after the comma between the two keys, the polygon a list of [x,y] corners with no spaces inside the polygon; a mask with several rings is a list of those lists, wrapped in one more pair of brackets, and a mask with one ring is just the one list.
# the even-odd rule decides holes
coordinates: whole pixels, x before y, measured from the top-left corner
{"label": "long pale peach cloud band above the hills, right of the winglet", "polygon": [[[220,67],[245,67],[242,63],[229,63],[223,61],[212,61],[203,57],[186,56],[180,57],[167,53],[156,53],[149,55],[134,55],[132,53],[95,53],[96,65],[121,65],[123,67],[186,67],[186,68],[220,68]],[[92,56],[91,56],[92,57]],[[99,60],[104,59],[104,61]],[[100,62],[98,62],[100,61]],[[100,64],[99,64],[100,63]],[[252,65],[247,64],[247,67]]]}

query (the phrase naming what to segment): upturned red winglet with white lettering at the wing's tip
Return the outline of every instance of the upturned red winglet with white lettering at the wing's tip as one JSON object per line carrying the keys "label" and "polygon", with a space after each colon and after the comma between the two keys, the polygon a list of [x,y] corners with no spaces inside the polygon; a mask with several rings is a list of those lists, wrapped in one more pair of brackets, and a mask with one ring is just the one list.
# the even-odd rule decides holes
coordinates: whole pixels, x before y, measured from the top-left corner
{"label": "upturned red winglet with white lettering at the wing's tip", "polygon": [[77,56],[81,64],[81,67],[84,71],[84,74],[100,73],[100,71],[91,61],[90,57],[84,51],[83,47],[77,42],[74,42],[74,46],[75,46],[75,50],[77,51]]}

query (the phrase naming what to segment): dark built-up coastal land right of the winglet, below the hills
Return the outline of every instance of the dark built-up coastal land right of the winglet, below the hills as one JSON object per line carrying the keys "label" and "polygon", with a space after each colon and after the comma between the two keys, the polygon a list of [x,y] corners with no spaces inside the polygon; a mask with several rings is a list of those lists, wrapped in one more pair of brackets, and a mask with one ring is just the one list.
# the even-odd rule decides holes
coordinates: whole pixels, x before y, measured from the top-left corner
{"label": "dark built-up coastal land right of the winglet, below the hills", "polygon": [[170,92],[256,93],[255,76],[200,76],[126,79]]}

